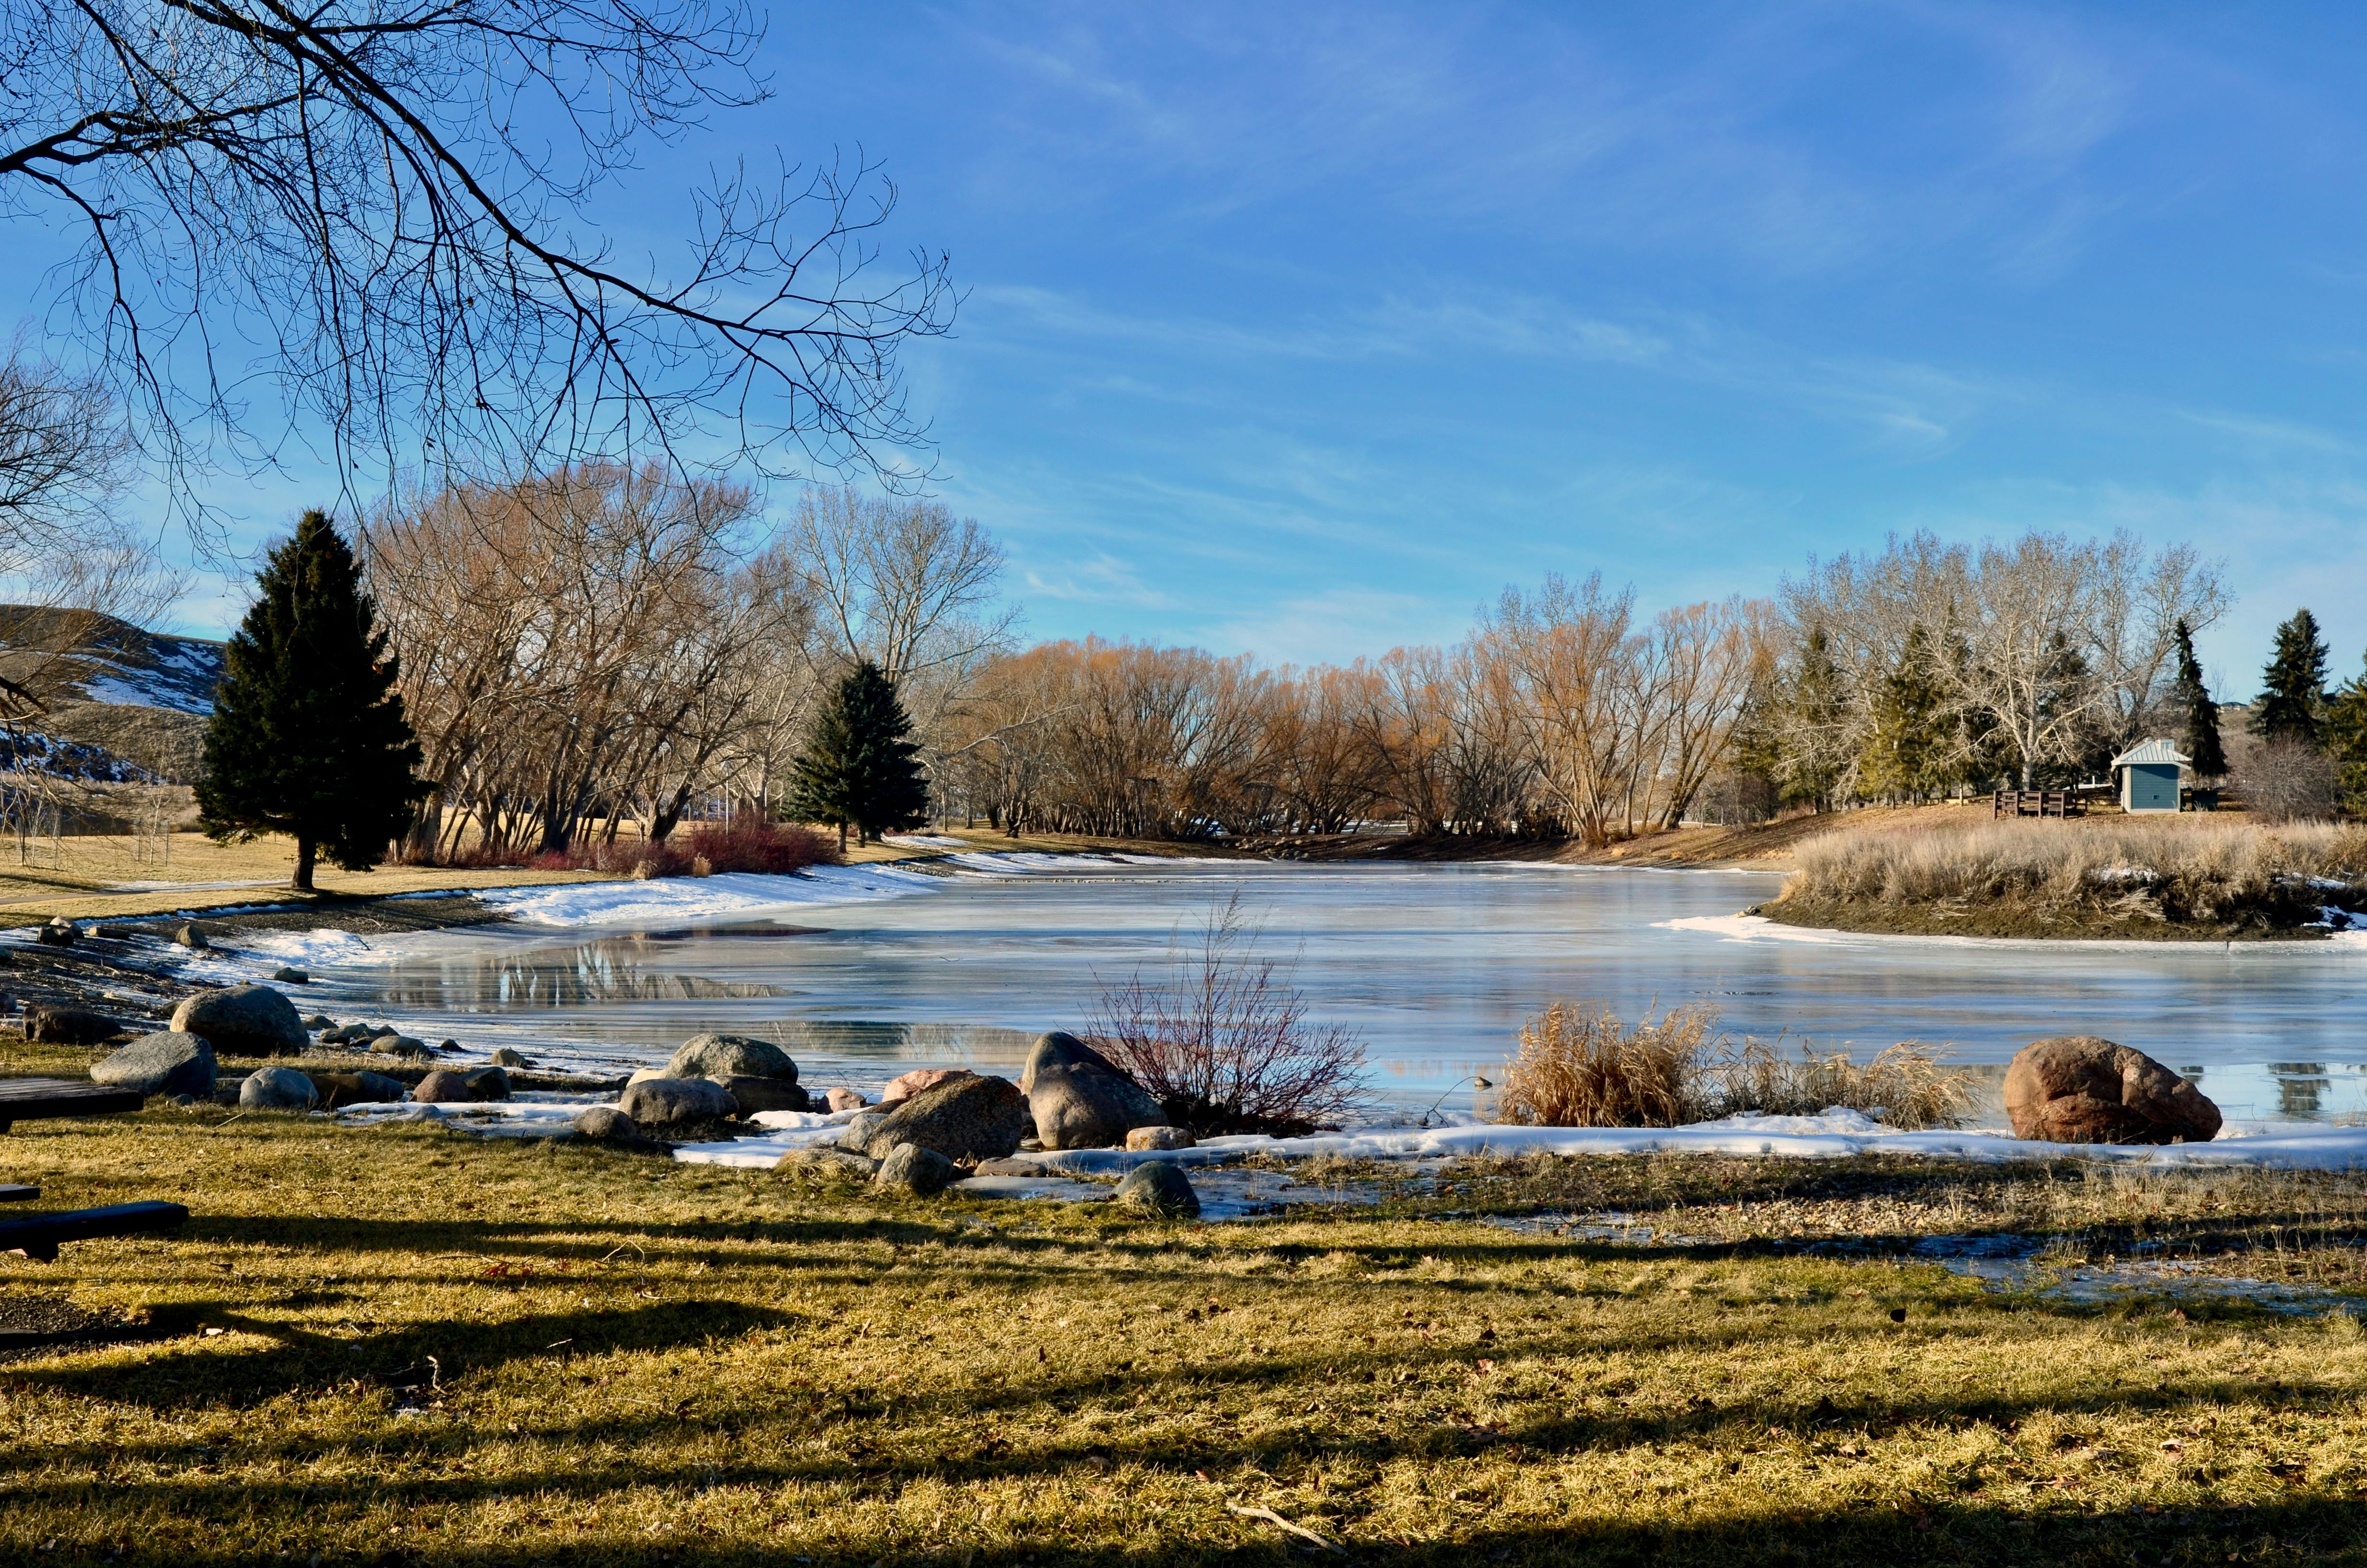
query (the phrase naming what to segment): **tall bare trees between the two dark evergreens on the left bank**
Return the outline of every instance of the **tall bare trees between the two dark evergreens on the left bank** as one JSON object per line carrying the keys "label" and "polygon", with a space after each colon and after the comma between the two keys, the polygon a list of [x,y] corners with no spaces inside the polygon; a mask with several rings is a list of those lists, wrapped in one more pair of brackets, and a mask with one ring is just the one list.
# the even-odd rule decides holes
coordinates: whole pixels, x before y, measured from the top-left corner
{"label": "tall bare trees between the two dark evergreens on the left bank", "polygon": [[873,658],[935,715],[1006,625],[1001,552],[940,505],[810,490],[767,528],[748,488],[660,464],[398,493],[362,554],[436,857],[769,810],[836,670]]}

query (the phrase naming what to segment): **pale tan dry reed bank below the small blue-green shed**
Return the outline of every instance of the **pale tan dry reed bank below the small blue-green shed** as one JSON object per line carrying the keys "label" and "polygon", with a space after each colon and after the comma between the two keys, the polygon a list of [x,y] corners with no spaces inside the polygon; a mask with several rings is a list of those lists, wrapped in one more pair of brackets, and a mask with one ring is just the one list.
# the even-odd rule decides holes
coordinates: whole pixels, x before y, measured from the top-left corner
{"label": "pale tan dry reed bank below the small blue-green shed", "polygon": [[2133,907],[2159,919],[2310,914],[2367,881],[2367,829],[2242,822],[1943,822],[1804,843],[1782,900]]}

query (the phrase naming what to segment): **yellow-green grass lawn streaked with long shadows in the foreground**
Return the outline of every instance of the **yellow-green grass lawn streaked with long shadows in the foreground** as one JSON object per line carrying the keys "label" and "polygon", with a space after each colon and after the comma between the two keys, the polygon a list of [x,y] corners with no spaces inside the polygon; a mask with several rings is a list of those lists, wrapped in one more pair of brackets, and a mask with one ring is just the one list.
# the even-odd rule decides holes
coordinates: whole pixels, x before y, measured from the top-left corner
{"label": "yellow-green grass lawn streaked with long shadows in the foreground", "polygon": [[[0,1258],[9,1322],[156,1336],[0,1362],[9,1561],[1333,1556],[1233,1509],[1361,1563],[2367,1556],[2353,1317],[1766,1244],[2017,1225],[2310,1274],[2362,1177],[1531,1161],[1188,1227],[218,1108],[0,1156],[43,1208],[196,1215]],[[1692,1241],[1434,1217],[1562,1208]]]}

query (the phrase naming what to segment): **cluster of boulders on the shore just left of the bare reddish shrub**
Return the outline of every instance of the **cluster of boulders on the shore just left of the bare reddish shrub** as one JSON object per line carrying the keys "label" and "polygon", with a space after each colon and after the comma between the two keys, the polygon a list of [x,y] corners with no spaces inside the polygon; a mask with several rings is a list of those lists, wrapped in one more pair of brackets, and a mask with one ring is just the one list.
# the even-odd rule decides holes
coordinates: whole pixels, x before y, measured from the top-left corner
{"label": "cluster of boulders on the shore just left of the bare reddish shrub", "polygon": [[[831,1092],[833,1108],[840,1092]],[[935,1194],[963,1175],[1044,1175],[1023,1151],[1191,1149],[1160,1104],[1084,1040],[1051,1033],[1027,1052],[1018,1082],[966,1068],[918,1068],[892,1080],[878,1106],[847,1118],[833,1146],[793,1149],[781,1170],[821,1180]],[[1200,1213],[1191,1177],[1167,1161],[1139,1165],[1117,1201],[1162,1217]]]}

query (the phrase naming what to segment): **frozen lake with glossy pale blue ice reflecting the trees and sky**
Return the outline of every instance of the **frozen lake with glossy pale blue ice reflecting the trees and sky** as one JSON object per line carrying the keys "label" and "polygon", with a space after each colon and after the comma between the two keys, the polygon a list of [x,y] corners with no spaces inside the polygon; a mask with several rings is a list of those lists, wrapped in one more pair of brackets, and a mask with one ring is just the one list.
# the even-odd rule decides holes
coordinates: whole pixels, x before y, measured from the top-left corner
{"label": "frozen lake with glossy pale blue ice reflecting the trees and sky", "polygon": [[767,1035],[807,1085],[871,1090],[907,1066],[1015,1068],[1034,1033],[1082,1028],[1105,983],[1162,969],[1174,933],[1240,891],[1262,950],[1318,1018],[1363,1035],[1373,1090],[1397,1104],[1468,1106],[1453,1085],[1496,1078],[1522,1018],[1602,997],[1628,1016],[1714,1002],[1735,1033],[1860,1056],[1922,1040],[2005,1061],[2095,1033],[2189,1073],[2230,1116],[2367,1118],[2358,945],[1801,940],[1721,919],[1775,893],[1756,872],[1202,860],[911,881],[729,924],[436,933],[320,990],[338,1016],[431,1040],[613,1063],[663,1061],[703,1028]]}

